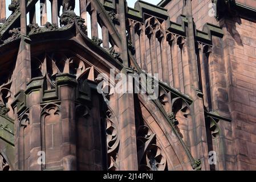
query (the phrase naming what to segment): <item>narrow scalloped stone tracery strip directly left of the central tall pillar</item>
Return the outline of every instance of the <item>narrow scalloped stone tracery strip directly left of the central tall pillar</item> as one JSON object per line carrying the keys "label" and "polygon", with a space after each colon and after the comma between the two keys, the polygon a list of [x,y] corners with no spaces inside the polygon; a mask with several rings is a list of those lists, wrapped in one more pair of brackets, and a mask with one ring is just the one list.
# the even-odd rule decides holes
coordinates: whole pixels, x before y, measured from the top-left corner
{"label": "narrow scalloped stone tracery strip directly left of the central tall pillar", "polygon": [[119,169],[118,163],[118,152],[119,152],[119,131],[118,131],[118,122],[113,115],[111,110],[107,111],[106,119],[106,133],[107,133],[107,148],[108,148],[108,170],[116,171]]}

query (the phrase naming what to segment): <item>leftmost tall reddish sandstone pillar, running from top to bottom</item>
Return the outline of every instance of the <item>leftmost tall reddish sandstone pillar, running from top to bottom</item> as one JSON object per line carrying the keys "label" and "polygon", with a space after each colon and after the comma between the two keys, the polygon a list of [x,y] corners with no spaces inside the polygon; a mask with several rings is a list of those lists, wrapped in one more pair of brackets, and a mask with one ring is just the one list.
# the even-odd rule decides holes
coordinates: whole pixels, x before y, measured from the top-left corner
{"label": "leftmost tall reddish sandstone pillar, running from top to bottom", "polygon": [[[13,103],[15,118],[15,169],[27,169],[27,157],[29,156],[30,147],[24,146],[29,144],[29,115],[26,113],[26,95],[27,84],[31,80],[31,57],[30,57],[30,38],[27,36],[27,20],[26,20],[27,1],[21,1],[21,43],[17,61],[13,74],[13,93],[15,101]],[[20,148],[20,149],[19,149]],[[26,149],[26,151],[25,151]],[[26,163],[26,164],[25,164]]]}

